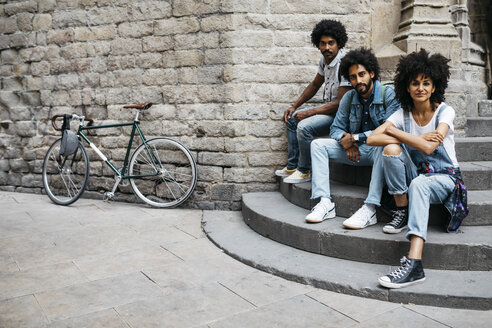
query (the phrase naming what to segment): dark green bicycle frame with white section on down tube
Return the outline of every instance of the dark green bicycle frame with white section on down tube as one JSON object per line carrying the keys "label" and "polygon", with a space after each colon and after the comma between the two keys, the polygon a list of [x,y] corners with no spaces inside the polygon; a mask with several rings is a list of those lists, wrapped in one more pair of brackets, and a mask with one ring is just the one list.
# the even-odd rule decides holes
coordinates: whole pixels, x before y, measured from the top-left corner
{"label": "dark green bicycle frame with white section on down tube", "polygon": [[[126,149],[126,155],[125,155],[125,159],[123,161],[123,168],[121,171],[119,171],[116,167],[114,167],[114,165],[111,163],[111,161],[99,150],[99,148],[97,148],[97,146],[93,142],[90,141],[88,136],[86,134],[84,134],[84,131],[116,128],[116,127],[122,127],[122,126],[132,126],[132,132],[130,134],[130,140],[128,142],[128,146]],[[156,168],[156,173],[154,173],[154,174],[126,175],[127,168],[128,168],[128,161],[130,158],[130,151],[132,149],[133,139],[135,137],[135,131],[138,132],[138,135],[140,136],[142,143],[145,144],[145,148],[147,149],[147,154],[149,155],[149,158],[152,160],[152,165],[154,165],[154,167]],[[96,154],[111,168],[111,170],[114,171],[114,173],[120,179],[133,179],[133,178],[138,179],[138,178],[152,177],[152,176],[159,175],[157,168],[161,167],[161,163],[159,162],[158,158],[156,158],[156,156],[154,155],[154,152],[152,151],[152,149],[150,149],[150,147],[147,145],[147,139],[145,138],[142,130],[140,129],[138,120],[135,120],[133,122],[106,124],[106,125],[97,125],[97,126],[86,126],[86,125],[83,125],[83,122],[81,122],[81,124],[79,125],[79,129],[77,131],[77,135],[80,136],[96,152]]]}

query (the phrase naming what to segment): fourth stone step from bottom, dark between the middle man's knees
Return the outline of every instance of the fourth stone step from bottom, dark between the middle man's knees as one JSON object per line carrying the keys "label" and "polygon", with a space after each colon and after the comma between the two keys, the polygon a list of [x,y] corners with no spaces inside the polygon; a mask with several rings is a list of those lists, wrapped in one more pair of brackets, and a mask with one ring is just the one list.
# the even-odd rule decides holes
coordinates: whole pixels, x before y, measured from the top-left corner
{"label": "fourth stone step from bottom, dark between the middle man's knees", "polygon": [[[468,190],[492,189],[492,161],[460,162],[460,169]],[[369,186],[371,171],[371,166],[330,163],[331,179],[350,185]]]}

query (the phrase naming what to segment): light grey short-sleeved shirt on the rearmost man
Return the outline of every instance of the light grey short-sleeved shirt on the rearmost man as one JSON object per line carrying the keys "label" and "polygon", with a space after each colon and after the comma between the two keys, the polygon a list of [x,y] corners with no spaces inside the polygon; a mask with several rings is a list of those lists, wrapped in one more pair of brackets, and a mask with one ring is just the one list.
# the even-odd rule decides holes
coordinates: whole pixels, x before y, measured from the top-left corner
{"label": "light grey short-sleeved shirt on the rearmost man", "polygon": [[[338,87],[350,87],[351,84],[342,75],[338,76],[338,70],[340,69],[340,62],[345,56],[345,51],[338,50],[337,56],[331,61],[330,64],[326,64],[325,57],[321,55],[318,64],[318,74],[325,77],[325,89],[323,91],[323,100],[325,103],[329,103],[337,100]],[[340,82],[339,79],[340,78]]]}

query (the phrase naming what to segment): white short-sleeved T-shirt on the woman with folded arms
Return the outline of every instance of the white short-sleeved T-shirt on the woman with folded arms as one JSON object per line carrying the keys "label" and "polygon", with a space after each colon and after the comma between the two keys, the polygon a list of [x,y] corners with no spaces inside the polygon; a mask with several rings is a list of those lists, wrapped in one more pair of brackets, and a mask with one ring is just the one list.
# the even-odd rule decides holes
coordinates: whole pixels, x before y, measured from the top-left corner
{"label": "white short-sleeved T-shirt on the woman with folded arms", "polygon": [[[413,115],[410,114],[410,133],[414,135],[422,135],[427,132],[434,131],[436,128],[436,119],[437,119],[437,113],[439,113],[439,110],[441,109],[442,106],[444,106],[445,103],[441,103],[439,107],[435,110],[434,116],[432,116],[432,119],[430,120],[429,123],[427,123],[425,126],[420,126],[415,122]],[[448,153],[449,158],[453,162],[454,167],[459,167],[458,160],[456,159],[456,150],[454,148],[454,120],[455,112],[453,107],[447,106],[446,109],[444,109],[439,116],[439,123],[446,123],[449,125],[449,130],[448,134],[444,137],[444,141],[442,142],[444,149]],[[388,121],[393,123],[393,125],[400,130],[405,129],[405,119],[403,116],[403,109],[400,109],[396,112],[394,112],[389,118]]]}

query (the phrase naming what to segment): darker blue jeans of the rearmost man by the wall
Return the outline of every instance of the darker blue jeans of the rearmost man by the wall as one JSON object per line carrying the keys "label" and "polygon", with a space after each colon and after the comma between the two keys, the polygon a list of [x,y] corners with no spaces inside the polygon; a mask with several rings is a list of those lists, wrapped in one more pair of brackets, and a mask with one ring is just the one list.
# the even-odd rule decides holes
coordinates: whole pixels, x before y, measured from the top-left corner
{"label": "darker blue jeans of the rearmost man by the wall", "polygon": [[311,170],[311,142],[314,137],[325,136],[330,134],[330,126],[334,117],[331,115],[314,115],[300,122],[294,119],[294,116],[310,108],[299,109],[292,114],[287,120],[287,142],[288,160],[287,168],[289,170],[297,168],[302,173]]}

